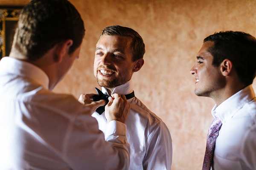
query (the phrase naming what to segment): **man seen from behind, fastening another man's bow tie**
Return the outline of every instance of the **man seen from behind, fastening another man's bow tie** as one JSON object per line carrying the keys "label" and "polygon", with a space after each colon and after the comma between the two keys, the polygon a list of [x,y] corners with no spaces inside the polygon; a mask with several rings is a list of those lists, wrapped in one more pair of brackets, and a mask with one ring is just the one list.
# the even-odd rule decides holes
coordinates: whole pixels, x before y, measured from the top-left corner
{"label": "man seen from behind, fastening another man's bow tie", "polygon": [[84,23],[67,0],[32,0],[23,8],[12,51],[0,61],[0,170],[126,170],[124,124],[130,106],[113,94],[105,136],[85,105],[51,90],[79,57]]}

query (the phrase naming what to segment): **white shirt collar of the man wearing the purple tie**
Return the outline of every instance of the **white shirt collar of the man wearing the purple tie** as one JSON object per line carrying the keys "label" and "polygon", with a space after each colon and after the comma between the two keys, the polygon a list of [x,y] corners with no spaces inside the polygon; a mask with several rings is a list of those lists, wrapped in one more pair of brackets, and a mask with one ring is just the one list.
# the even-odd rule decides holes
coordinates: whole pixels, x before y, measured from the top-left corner
{"label": "white shirt collar of the man wearing the purple tie", "polygon": [[241,91],[237,92],[220,105],[215,105],[212,108],[212,116],[219,118],[222,123],[226,122],[227,119],[234,116],[236,111],[241,109],[247,102],[250,102],[255,97],[252,85],[247,86]]}

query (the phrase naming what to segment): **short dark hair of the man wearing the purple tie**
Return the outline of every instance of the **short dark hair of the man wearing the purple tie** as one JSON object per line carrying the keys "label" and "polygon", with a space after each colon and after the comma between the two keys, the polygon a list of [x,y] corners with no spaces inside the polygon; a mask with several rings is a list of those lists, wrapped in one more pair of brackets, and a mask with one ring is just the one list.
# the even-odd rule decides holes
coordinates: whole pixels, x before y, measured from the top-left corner
{"label": "short dark hair of the man wearing the purple tie", "polygon": [[256,39],[250,34],[239,31],[221,31],[204,39],[214,45],[208,49],[213,56],[212,65],[219,66],[229,59],[235,68],[240,82],[253,83],[256,76]]}

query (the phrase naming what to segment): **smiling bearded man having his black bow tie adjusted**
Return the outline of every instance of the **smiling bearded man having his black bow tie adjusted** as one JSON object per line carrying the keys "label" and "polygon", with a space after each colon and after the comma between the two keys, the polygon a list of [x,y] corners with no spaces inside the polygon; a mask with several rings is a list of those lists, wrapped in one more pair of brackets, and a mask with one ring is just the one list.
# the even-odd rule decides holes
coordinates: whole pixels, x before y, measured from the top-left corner
{"label": "smiling bearded man having his black bow tie adjusted", "polygon": [[[94,75],[102,92],[132,94],[130,79],[143,66],[144,53],[143,39],[133,29],[122,26],[104,28],[96,44],[94,59]],[[83,98],[80,100],[82,102]],[[137,97],[129,97],[128,102],[131,109],[125,123],[131,150],[129,169],[171,170],[172,139],[168,128]],[[95,112],[92,116],[106,134],[105,114]]]}

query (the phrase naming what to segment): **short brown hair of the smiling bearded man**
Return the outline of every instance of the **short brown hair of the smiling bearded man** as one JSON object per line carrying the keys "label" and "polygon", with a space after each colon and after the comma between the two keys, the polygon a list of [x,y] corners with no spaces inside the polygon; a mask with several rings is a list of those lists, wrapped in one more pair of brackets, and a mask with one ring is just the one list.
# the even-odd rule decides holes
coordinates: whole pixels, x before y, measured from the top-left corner
{"label": "short brown hair of the smiling bearded man", "polygon": [[108,26],[102,30],[101,35],[119,35],[123,37],[131,37],[131,48],[133,51],[133,61],[143,58],[145,54],[145,44],[142,37],[131,28],[123,26]]}

